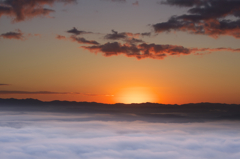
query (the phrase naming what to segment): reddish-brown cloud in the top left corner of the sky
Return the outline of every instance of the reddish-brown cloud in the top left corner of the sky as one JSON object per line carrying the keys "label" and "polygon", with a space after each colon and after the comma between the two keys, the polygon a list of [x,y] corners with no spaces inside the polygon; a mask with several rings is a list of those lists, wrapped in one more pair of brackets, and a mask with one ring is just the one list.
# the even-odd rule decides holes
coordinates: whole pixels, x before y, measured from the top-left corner
{"label": "reddish-brown cloud in the top left corner of the sky", "polygon": [[0,17],[3,15],[11,16],[14,22],[20,22],[37,16],[48,16],[54,12],[54,10],[45,8],[46,5],[51,7],[56,2],[67,4],[74,1],[75,0],[5,0],[0,4]]}

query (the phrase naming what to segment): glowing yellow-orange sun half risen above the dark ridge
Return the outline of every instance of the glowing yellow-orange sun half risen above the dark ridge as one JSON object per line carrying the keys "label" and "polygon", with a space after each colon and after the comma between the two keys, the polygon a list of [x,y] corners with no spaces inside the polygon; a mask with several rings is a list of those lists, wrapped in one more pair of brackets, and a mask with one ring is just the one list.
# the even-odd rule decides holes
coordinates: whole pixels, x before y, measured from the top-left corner
{"label": "glowing yellow-orange sun half risen above the dark ridge", "polygon": [[132,87],[124,88],[117,96],[117,102],[119,103],[146,103],[155,102],[156,95],[146,87]]}

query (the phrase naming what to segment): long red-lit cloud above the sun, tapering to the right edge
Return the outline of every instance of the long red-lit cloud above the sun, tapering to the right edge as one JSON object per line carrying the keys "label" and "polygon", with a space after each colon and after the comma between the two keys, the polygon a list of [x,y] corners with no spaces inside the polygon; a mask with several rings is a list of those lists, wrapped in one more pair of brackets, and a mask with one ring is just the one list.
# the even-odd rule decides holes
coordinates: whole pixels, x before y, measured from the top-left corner
{"label": "long red-lit cloud above the sun, tapering to the right edge", "polygon": [[200,53],[212,53],[216,51],[231,51],[240,52],[240,49],[232,48],[185,48],[177,45],[159,45],[159,44],[147,44],[142,43],[139,45],[135,44],[121,44],[118,42],[108,42],[103,45],[94,46],[82,46],[81,48],[89,50],[93,53],[103,53],[104,56],[113,55],[125,55],[127,57],[135,57],[137,59],[152,58],[152,59],[164,59],[167,56],[179,56]]}

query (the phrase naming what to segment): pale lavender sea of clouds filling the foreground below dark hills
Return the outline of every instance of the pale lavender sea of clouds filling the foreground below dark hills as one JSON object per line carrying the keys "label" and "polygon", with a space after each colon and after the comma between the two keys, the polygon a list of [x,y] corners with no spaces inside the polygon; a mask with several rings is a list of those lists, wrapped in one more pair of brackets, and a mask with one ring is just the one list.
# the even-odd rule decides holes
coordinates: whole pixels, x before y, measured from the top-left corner
{"label": "pale lavender sea of clouds filling the foreground below dark hills", "polygon": [[[110,120],[111,119],[111,120]],[[0,112],[1,159],[239,159],[239,122]]]}

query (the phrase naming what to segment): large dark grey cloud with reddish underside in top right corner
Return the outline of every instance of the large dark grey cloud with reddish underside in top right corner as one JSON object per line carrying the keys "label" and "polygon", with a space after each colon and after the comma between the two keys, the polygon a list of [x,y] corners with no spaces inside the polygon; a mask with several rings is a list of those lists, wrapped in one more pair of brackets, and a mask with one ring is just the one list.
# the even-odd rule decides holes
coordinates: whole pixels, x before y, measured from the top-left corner
{"label": "large dark grey cloud with reddish underside in top right corner", "polygon": [[[191,7],[189,14],[172,16],[167,22],[152,25],[155,32],[186,31],[218,38],[240,38],[240,1],[236,0],[166,0],[162,4]],[[227,19],[233,16],[237,20]]]}

